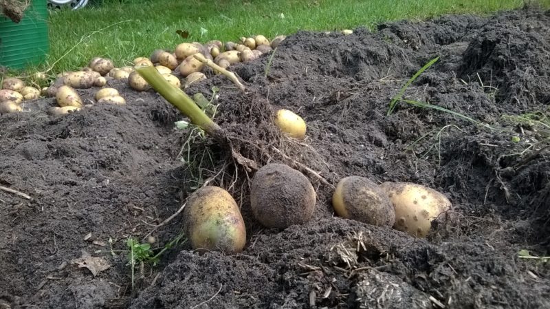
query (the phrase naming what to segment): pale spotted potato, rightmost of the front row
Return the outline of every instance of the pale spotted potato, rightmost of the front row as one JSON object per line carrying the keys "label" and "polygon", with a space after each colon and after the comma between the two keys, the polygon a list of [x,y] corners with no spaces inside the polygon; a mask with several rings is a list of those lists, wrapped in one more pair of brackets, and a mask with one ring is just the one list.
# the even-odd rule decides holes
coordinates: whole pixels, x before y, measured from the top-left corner
{"label": "pale spotted potato, rightmost of the front row", "polygon": [[411,182],[380,184],[395,209],[393,228],[416,237],[426,237],[432,220],[451,208],[445,195]]}

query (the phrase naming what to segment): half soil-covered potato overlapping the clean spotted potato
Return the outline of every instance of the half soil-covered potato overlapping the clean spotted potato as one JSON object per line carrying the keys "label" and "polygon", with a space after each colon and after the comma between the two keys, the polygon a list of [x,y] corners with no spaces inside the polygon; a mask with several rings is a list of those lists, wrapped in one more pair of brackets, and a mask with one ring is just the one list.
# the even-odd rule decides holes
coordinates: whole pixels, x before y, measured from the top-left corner
{"label": "half soil-covered potato overlapping the clean spotted potato", "polygon": [[371,180],[349,176],[338,182],[332,196],[340,217],[376,226],[393,226],[395,211],[388,195]]}

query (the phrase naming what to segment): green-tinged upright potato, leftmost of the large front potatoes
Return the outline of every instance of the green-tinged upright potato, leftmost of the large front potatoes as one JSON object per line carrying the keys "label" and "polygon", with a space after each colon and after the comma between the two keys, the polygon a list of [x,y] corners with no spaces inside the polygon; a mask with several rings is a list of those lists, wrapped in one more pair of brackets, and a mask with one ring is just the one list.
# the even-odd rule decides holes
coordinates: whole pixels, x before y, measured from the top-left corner
{"label": "green-tinged upright potato, leftmost of the large front potatoes", "polygon": [[230,254],[245,247],[246,228],[239,206],[220,187],[202,187],[190,195],[184,224],[193,249]]}

